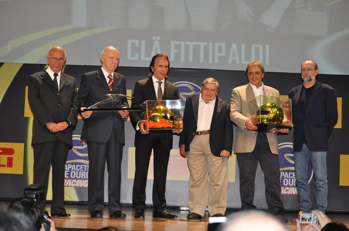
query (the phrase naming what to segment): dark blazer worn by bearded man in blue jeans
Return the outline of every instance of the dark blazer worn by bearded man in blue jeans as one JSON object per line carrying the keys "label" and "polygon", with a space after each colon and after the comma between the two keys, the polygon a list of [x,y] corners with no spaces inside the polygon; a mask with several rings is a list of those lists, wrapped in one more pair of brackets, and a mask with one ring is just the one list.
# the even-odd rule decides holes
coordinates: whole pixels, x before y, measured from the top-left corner
{"label": "dark blazer worn by bearded man in blue jeans", "polygon": [[292,99],[292,122],[295,126],[293,151],[301,151],[304,143],[307,143],[310,151],[328,151],[328,138],[338,120],[336,91],[331,86],[316,81],[303,116],[299,102],[302,87],[303,84],[289,92],[289,98]]}

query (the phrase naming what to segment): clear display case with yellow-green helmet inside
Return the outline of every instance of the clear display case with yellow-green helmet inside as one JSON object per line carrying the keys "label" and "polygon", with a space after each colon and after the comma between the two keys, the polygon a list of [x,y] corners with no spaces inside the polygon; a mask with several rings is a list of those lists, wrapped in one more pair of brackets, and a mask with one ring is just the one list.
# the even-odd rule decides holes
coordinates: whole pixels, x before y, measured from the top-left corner
{"label": "clear display case with yellow-green helmet inside", "polygon": [[258,95],[247,102],[250,116],[255,115],[254,125],[258,132],[279,133],[291,129],[292,102],[289,98]]}

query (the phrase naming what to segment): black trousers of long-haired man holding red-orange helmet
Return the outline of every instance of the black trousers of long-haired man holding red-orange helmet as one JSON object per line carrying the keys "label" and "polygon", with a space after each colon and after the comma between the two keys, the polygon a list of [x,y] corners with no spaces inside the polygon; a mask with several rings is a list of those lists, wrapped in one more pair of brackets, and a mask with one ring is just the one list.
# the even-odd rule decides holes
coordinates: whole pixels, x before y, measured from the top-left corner
{"label": "black trousers of long-haired man holding red-orange helmet", "polygon": [[136,171],[133,182],[132,202],[136,209],[146,209],[147,175],[152,150],[154,150],[154,211],[166,209],[166,176],[171,148],[162,143],[161,136],[150,137],[149,146],[136,146]]}

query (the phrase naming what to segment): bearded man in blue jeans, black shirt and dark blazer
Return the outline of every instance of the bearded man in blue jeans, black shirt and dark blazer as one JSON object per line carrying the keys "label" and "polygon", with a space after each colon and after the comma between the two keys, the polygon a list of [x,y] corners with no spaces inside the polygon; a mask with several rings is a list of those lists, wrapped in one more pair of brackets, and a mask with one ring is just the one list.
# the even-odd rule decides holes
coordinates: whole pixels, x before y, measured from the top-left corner
{"label": "bearded man in blue jeans, black shirt and dark blazer", "polygon": [[292,88],[293,153],[295,160],[296,186],[299,209],[311,212],[310,188],[308,182],[309,163],[315,175],[314,210],[325,213],[327,207],[328,139],[338,120],[337,95],[334,88],[316,80],[318,65],[313,60],[302,64],[303,84]]}

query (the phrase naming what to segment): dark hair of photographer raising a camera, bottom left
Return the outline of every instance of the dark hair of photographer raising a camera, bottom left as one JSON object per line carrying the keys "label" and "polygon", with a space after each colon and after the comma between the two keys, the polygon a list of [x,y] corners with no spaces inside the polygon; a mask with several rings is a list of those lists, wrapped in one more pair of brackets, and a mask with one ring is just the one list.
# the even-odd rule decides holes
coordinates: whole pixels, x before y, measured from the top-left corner
{"label": "dark hair of photographer raising a camera, bottom left", "polygon": [[26,215],[31,220],[35,229],[40,230],[41,220],[39,218],[41,218],[42,209],[36,201],[27,197],[20,197],[9,204],[7,212]]}

